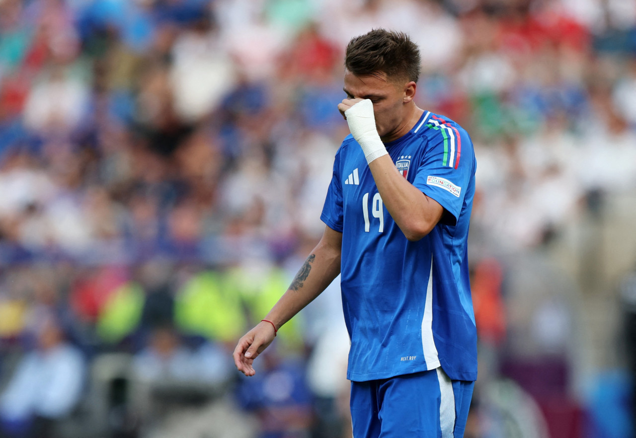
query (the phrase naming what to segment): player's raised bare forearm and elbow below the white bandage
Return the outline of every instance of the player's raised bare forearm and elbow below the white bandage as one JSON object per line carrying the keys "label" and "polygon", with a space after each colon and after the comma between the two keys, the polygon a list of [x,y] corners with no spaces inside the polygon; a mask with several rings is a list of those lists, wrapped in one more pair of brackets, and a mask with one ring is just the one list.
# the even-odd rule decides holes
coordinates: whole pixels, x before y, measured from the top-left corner
{"label": "player's raised bare forearm and elbow below the white bandage", "polygon": [[408,240],[420,240],[441,219],[443,209],[397,171],[389,155],[369,163],[382,203]]}

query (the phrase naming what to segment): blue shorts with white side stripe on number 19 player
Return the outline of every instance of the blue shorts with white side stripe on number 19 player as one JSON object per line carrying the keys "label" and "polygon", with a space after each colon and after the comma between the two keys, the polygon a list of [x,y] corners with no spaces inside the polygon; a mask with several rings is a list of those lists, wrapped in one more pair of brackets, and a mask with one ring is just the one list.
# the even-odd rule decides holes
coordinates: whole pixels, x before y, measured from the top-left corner
{"label": "blue shorts with white side stripe on number 19 player", "polygon": [[351,382],[354,438],[461,438],[473,381],[439,367],[389,379]]}

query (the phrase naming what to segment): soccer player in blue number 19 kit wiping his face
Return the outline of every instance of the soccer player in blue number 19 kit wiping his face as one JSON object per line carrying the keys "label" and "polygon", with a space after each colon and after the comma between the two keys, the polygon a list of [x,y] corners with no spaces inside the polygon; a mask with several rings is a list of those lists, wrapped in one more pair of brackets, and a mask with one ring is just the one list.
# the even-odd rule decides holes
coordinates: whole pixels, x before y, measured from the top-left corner
{"label": "soccer player in blue number 19 kit wiping his face", "polygon": [[338,275],[351,347],[355,438],[462,437],[477,378],[467,235],[476,162],[466,131],[413,101],[416,44],[375,29],[345,53],[324,234],[289,289],[243,336],[237,368]]}

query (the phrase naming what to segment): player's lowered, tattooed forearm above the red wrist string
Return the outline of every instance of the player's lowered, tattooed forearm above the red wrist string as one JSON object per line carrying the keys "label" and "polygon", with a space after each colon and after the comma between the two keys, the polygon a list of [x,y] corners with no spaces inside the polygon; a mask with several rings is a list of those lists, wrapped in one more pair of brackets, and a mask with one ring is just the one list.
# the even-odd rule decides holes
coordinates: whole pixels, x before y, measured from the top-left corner
{"label": "player's lowered, tattooed forearm above the red wrist string", "polygon": [[340,273],[340,247],[322,241],[307,257],[287,291],[269,311],[265,319],[279,329],[296,313],[311,303]]}

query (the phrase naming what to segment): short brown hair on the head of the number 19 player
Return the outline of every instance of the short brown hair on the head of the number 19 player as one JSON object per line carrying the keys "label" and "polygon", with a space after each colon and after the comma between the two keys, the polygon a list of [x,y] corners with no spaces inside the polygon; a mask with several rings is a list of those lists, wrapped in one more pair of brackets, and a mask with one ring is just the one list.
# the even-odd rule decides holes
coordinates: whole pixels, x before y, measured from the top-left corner
{"label": "short brown hair on the head of the number 19 player", "polygon": [[373,29],[347,44],[345,68],[356,76],[384,72],[388,78],[417,82],[420,50],[404,32]]}

